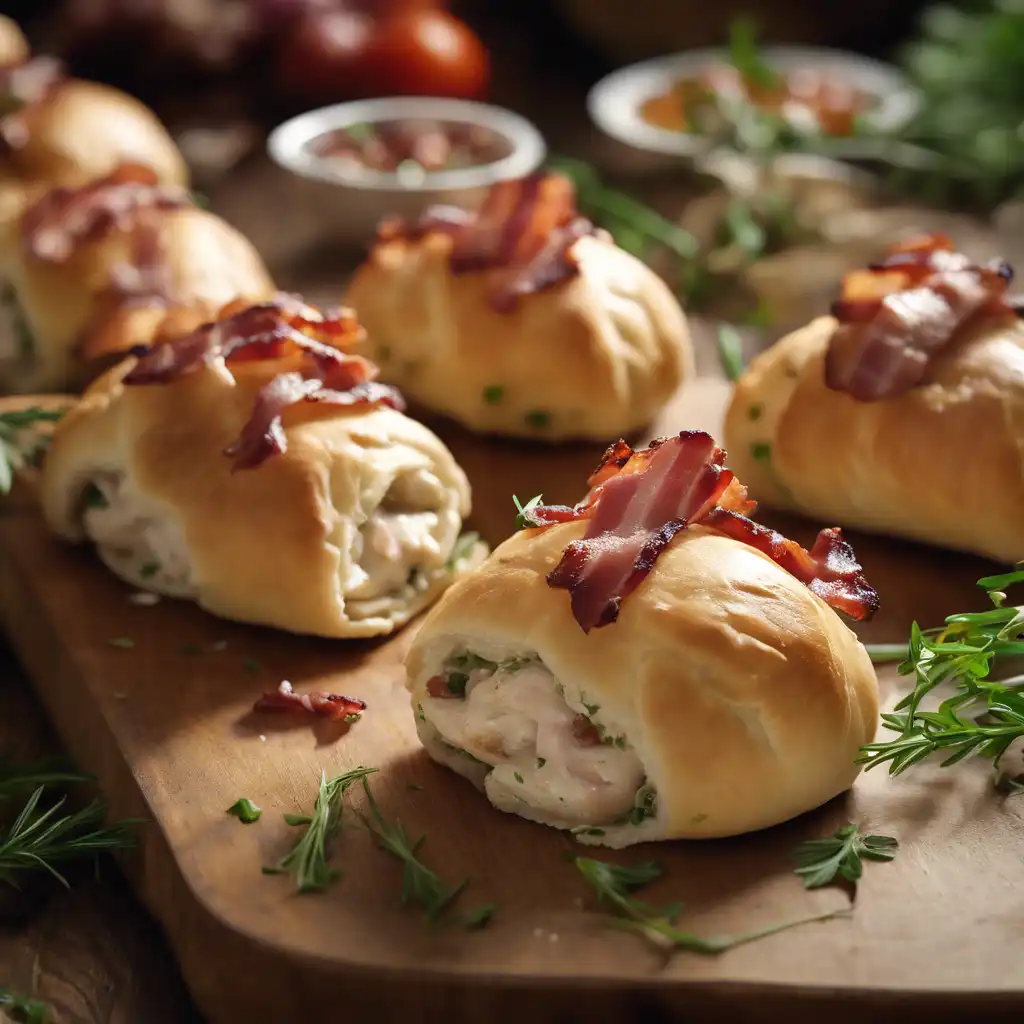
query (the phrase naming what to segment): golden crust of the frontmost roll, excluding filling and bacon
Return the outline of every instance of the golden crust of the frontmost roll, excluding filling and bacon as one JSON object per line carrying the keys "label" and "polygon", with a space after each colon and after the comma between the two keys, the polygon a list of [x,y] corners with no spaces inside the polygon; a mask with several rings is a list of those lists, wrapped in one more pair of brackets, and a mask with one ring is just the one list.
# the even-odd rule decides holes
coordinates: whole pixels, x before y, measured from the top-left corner
{"label": "golden crust of the frontmost roll, excluding filling and bacon", "polygon": [[[767,827],[848,788],[878,720],[866,651],[839,616],[761,552],[692,527],[618,620],[584,634],[545,575],[585,523],[523,530],[428,615],[407,659],[414,703],[453,651],[536,651],[574,705],[624,733],[657,791],[609,846]],[[433,752],[432,752],[433,753]]]}

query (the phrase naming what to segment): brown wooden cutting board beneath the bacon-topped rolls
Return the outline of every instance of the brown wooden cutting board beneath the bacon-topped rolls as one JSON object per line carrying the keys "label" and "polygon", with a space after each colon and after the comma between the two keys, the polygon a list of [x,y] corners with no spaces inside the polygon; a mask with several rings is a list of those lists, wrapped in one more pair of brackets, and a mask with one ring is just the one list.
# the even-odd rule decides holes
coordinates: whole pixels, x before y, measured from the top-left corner
{"label": "brown wooden cutting board beneath the bacon-topped rolls", "polygon": [[[717,431],[725,385],[700,380],[654,433]],[[599,446],[548,450],[443,434],[473,482],[472,525],[497,543],[513,528],[511,496],[579,498]],[[1024,828],[984,765],[863,776],[853,793],[769,831],[662,844],[622,854],[657,859],[654,903],[682,900],[698,933],[737,931],[842,907],[840,890],[807,893],[792,873],[802,840],[847,820],[895,836],[900,854],[868,864],[849,915],[717,957],[671,957],[607,927],[565,854],[572,841],[492,809],[427,760],[403,688],[415,625],[384,642],[324,641],[216,620],[190,604],[139,607],[85,549],[52,539],[31,501],[0,515],[0,611],[20,658],[80,766],[118,817],[150,819],[126,857],[213,1024],[337,1020],[932,1021],[1009,1019],[1024,1010]],[[807,542],[817,524],[765,517]],[[883,608],[872,641],[983,606],[981,560],[853,536]],[[268,538],[268,543],[272,539]],[[134,647],[111,646],[129,637]],[[888,690],[895,675],[884,671]],[[256,718],[254,699],[283,680],[365,698],[345,731]],[[360,827],[343,830],[327,893],[297,895],[266,877],[297,836],[283,812],[308,811],[321,771],[357,765],[383,813],[424,835],[423,859],[468,877],[462,906],[495,901],[489,927],[428,927],[399,906],[400,867]],[[351,791],[353,805],[361,795]],[[263,808],[243,825],[240,797]],[[349,818],[350,823],[355,819]],[[586,851],[581,851],[586,852]],[[865,1016],[866,1015],[866,1016]]]}

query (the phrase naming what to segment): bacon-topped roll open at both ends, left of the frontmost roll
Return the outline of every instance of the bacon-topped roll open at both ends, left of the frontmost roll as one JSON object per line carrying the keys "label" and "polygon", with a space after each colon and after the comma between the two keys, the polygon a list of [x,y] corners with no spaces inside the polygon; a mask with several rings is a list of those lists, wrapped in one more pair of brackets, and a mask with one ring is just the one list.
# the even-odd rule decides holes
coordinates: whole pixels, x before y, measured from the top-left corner
{"label": "bacon-topped roll open at both ends, left of the frontmost roll", "polygon": [[466,477],[347,353],[358,331],[281,297],[126,359],[54,432],[47,522],[225,618],[390,633],[479,552]]}

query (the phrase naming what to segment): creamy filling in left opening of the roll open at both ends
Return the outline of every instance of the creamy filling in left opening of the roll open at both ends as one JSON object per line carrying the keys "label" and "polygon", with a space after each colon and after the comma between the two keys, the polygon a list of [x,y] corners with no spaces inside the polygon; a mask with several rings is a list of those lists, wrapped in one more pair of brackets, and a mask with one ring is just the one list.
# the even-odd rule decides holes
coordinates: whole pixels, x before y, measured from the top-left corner
{"label": "creamy filling in left opening of the roll open at both ends", "polygon": [[140,587],[194,597],[191,564],[176,522],[133,492],[120,473],[102,473],[86,486],[82,522],[100,558]]}

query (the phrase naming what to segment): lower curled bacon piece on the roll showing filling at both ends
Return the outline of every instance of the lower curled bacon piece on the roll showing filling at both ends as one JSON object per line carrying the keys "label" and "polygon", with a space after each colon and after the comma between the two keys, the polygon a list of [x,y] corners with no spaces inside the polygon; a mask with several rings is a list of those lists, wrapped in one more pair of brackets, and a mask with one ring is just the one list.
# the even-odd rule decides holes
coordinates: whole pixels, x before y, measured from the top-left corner
{"label": "lower curled bacon piece on the roll showing filling at both ends", "polygon": [[377,381],[364,380],[352,384],[347,390],[335,390],[325,387],[324,382],[315,377],[304,378],[299,373],[279,374],[260,388],[253,403],[252,415],[242,428],[238,440],[224,449],[224,455],[232,462],[231,469],[255,469],[271,455],[287,452],[288,438],[285,436],[282,416],[286,409],[300,401],[349,407],[390,406],[399,412],[406,408],[398,391]]}

